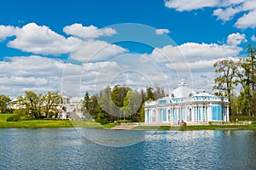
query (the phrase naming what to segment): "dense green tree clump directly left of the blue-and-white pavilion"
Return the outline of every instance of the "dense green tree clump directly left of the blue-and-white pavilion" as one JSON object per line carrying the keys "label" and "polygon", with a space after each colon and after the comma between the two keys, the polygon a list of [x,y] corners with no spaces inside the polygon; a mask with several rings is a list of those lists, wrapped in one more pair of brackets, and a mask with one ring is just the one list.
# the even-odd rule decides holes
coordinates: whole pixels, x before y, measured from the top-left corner
{"label": "dense green tree clump directly left of the blue-and-white pavilion", "polygon": [[129,87],[115,85],[107,87],[90,96],[84,94],[83,112],[102,124],[107,122],[143,122],[144,102],[166,96],[164,88],[156,86],[146,91],[132,90]]}

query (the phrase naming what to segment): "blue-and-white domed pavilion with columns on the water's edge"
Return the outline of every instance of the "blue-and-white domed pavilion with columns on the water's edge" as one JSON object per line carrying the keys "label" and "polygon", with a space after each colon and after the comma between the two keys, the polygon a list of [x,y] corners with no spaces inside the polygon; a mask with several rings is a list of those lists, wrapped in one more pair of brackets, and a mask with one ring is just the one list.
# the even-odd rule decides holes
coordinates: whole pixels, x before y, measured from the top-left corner
{"label": "blue-and-white domed pavilion with columns on the water's edge", "polygon": [[200,93],[181,82],[169,97],[145,103],[145,122],[229,122],[229,100]]}

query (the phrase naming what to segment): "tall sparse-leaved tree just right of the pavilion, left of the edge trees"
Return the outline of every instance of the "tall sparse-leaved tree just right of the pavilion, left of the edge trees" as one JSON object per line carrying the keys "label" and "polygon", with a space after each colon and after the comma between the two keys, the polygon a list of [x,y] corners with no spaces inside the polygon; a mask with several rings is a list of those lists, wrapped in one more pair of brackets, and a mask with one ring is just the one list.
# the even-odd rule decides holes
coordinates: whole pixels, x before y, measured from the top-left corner
{"label": "tall sparse-leaved tree just right of the pavilion, left of the edge trees", "polygon": [[[224,59],[214,63],[213,67],[216,68],[215,72],[219,74],[219,76],[214,79],[217,85],[214,85],[213,89],[218,90],[219,93],[225,94],[228,99],[231,100],[232,90],[235,86],[235,62],[232,59]],[[232,113],[231,106],[230,113]]]}

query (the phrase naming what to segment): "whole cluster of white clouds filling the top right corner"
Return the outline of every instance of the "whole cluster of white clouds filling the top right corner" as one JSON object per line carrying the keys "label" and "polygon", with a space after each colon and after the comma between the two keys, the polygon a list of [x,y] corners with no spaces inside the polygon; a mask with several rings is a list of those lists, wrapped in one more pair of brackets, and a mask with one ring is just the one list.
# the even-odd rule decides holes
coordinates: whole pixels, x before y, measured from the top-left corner
{"label": "whole cluster of white clouds filling the top right corner", "polygon": [[168,0],[165,1],[167,8],[175,8],[179,12],[201,8],[217,8],[213,10],[217,20],[232,20],[236,14],[242,14],[236,20],[235,26],[240,29],[256,27],[256,1],[254,0]]}

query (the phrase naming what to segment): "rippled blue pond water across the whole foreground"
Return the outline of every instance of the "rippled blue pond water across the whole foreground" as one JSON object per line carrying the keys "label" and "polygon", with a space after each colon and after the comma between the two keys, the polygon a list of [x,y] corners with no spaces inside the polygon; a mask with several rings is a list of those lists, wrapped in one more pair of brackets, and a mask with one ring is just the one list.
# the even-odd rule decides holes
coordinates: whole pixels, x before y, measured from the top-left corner
{"label": "rippled blue pond water across the whole foreground", "polygon": [[256,169],[253,130],[0,129],[0,144],[0,169]]}

